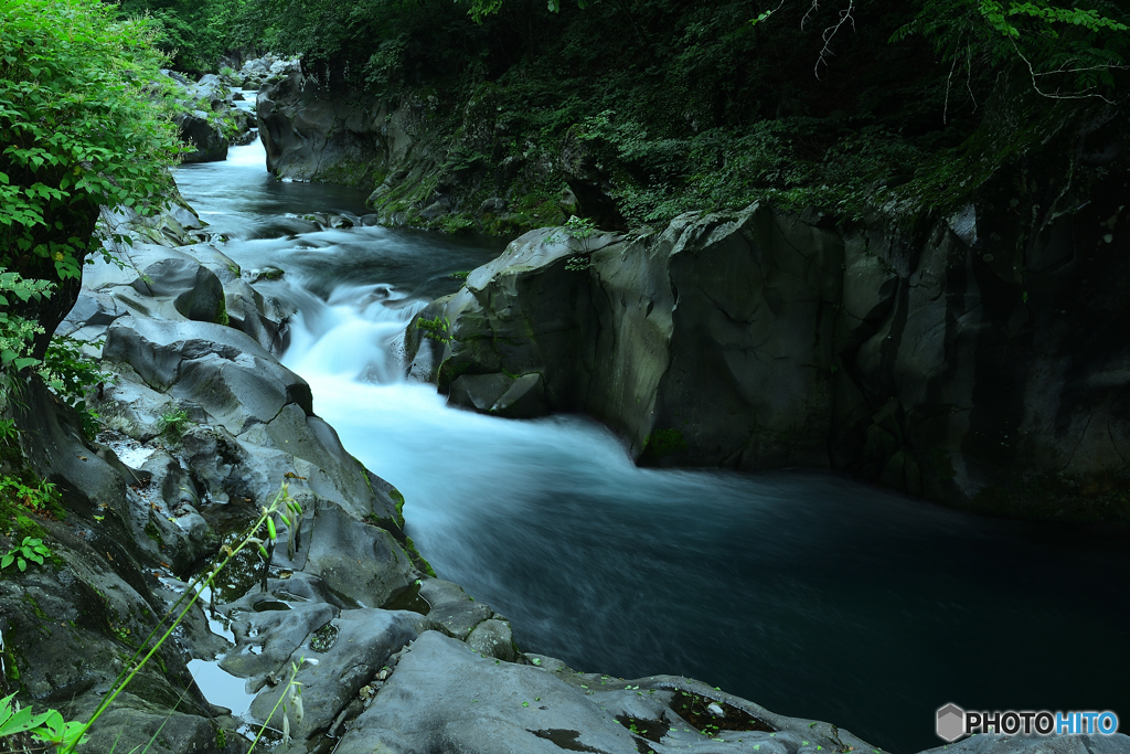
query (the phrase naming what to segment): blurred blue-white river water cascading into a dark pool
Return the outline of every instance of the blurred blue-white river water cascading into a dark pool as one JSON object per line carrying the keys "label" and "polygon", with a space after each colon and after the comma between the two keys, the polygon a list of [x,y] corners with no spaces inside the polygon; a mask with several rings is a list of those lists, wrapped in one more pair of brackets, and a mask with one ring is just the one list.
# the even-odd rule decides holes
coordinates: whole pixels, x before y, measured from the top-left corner
{"label": "blurred blue-white river water cascading into a dark pool", "polygon": [[[1130,722],[1124,536],[984,519],[832,475],[649,470],[576,416],[506,421],[402,379],[408,319],[494,241],[327,229],[364,194],[284,183],[261,145],[179,168],[244,268],[285,270],[285,363],[346,448],[407,499],[442,578],[525,651],[686,675],[876,745],[940,745],[935,710],[1113,709]],[[1127,725],[1123,725],[1125,728]]]}

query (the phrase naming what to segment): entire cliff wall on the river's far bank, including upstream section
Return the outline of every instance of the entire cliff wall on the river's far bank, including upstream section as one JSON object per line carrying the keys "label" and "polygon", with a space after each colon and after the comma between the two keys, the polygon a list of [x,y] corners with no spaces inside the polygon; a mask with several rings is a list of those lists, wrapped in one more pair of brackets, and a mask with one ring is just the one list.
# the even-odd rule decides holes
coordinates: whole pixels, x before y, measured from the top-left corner
{"label": "entire cliff wall on the river's far bank, including upstream section", "polygon": [[[486,104],[466,103],[459,144],[490,141]],[[567,210],[624,226],[594,142],[492,171],[437,141],[438,106],[275,79],[269,167],[368,181],[389,224]],[[762,202],[634,235],[524,235],[421,315],[427,348],[410,328],[411,372],[478,410],[591,414],[642,463],[833,468],[983,512],[1125,519],[1124,119],[1063,111],[1022,133],[993,106],[968,165],[864,219]],[[1016,148],[984,150],[1002,139]],[[515,223],[515,197],[553,171],[570,189]],[[485,188],[498,196],[479,202]]]}

